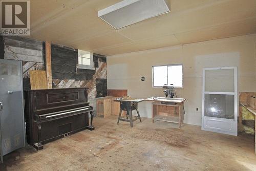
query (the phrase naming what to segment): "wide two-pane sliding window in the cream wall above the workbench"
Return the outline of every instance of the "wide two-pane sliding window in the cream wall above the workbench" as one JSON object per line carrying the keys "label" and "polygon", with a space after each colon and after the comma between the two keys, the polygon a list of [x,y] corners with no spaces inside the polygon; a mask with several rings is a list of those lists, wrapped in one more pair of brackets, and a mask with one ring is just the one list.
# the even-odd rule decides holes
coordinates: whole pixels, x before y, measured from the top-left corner
{"label": "wide two-pane sliding window in the cream wall above the workbench", "polygon": [[153,87],[174,84],[183,87],[182,65],[153,66]]}

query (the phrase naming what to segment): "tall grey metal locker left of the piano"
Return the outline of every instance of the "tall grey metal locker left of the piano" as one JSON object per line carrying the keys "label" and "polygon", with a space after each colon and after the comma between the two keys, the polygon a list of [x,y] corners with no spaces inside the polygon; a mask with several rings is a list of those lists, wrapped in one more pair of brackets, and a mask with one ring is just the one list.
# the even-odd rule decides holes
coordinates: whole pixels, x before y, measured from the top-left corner
{"label": "tall grey metal locker left of the piano", "polygon": [[0,152],[25,146],[22,62],[0,59]]}

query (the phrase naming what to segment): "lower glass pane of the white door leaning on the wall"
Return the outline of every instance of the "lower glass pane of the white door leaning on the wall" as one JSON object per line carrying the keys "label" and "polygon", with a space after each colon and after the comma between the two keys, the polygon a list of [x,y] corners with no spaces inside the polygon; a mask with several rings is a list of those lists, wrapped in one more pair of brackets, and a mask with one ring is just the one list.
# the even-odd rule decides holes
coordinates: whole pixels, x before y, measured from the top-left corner
{"label": "lower glass pane of the white door leaning on the wall", "polygon": [[205,94],[204,116],[234,119],[234,95]]}

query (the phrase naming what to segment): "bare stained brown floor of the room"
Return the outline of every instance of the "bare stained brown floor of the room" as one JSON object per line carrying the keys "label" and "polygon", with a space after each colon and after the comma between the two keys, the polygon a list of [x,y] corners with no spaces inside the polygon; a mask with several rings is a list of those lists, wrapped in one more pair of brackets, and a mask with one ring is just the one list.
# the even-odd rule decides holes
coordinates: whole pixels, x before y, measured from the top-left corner
{"label": "bare stained brown floor of the room", "polygon": [[46,144],[28,146],[4,157],[0,170],[256,170],[254,137],[182,129],[166,122],[116,124],[96,117],[95,131],[82,131]]}

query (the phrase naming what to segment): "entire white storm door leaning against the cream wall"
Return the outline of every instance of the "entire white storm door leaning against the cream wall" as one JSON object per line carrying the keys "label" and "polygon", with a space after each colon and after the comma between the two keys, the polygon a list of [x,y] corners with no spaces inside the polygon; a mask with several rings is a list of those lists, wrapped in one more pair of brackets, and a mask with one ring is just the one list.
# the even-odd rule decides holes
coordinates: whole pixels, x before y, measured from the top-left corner
{"label": "entire white storm door leaning against the cream wall", "polygon": [[202,130],[237,136],[237,67],[203,70]]}

